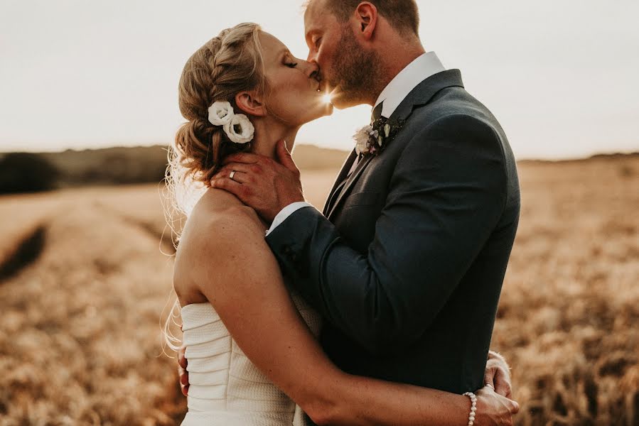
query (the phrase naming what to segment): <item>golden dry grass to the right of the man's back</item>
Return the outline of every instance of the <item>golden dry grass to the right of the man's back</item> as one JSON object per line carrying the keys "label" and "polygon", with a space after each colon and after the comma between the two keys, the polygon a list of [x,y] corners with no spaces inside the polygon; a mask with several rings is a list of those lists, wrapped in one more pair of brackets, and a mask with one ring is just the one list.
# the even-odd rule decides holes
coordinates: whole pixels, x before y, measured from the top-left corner
{"label": "golden dry grass to the right of the man's back", "polygon": [[521,425],[639,424],[639,158],[520,165],[493,347]]}

